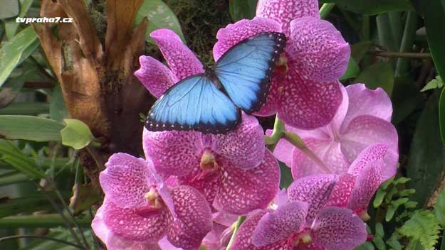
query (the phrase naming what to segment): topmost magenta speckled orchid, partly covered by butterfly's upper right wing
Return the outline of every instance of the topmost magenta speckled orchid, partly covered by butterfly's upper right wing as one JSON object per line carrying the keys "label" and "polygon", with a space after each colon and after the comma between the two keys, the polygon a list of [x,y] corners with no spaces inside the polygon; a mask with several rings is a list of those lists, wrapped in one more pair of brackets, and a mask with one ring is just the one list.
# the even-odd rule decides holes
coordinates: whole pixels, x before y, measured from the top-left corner
{"label": "topmost magenta speckled orchid, partly covered by butterfly's upper right wing", "polygon": [[273,72],[266,104],[256,114],[278,114],[299,129],[325,126],[342,101],[337,79],[347,68],[350,46],[331,23],[320,20],[318,1],[261,0],[256,18],[218,31],[215,60],[241,40],[267,31],[286,34],[288,43]]}

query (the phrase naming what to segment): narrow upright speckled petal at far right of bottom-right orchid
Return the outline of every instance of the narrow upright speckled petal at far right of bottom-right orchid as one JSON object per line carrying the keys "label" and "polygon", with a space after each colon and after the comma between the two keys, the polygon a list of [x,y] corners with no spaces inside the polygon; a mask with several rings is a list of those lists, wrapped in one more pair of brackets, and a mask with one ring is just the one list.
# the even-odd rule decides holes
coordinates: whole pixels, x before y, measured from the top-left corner
{"label": "narrow upright speckled petal at far right of bottom-right orchid", "polygon": [[367,210],[372,196],[382,183],[382,160],[369,163],[360,173],[351,192],[348,208],[360,214]]}

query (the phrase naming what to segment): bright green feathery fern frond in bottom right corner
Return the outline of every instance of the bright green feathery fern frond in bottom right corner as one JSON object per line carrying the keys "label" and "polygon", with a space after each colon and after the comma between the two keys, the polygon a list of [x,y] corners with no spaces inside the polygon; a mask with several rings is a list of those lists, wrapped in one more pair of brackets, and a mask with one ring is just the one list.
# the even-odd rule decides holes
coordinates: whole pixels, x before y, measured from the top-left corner
{"label": "bright green feathery fern frond in bottom right corner", "polygon": [[429,210],[419,210],[399,229],[404,237],[419,240],[425,250],[434,250],[441,227]]}

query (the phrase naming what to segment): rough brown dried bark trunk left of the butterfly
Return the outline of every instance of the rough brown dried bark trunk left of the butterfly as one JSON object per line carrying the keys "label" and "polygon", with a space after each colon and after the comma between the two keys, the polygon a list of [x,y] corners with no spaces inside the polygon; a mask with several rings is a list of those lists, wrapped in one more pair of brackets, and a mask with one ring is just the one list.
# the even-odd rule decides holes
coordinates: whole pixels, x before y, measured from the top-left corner
{"label": "rough brown dried bark trunk left of the butterfly", "polygon": [[139,114],[147,113],[154,99],[133,75],[147,28],[147,19],[134,27],[140,4],[142,0],[106,2],[105,45],[84,0],[41,1],[41,16],[73,18],[73,23],[58,24],[58,38],[50,24],[34,25],[70,116],[85,122],[103,141],[101,148],[87,148],[80,154],[94,185],[110,154],[142,154]]}

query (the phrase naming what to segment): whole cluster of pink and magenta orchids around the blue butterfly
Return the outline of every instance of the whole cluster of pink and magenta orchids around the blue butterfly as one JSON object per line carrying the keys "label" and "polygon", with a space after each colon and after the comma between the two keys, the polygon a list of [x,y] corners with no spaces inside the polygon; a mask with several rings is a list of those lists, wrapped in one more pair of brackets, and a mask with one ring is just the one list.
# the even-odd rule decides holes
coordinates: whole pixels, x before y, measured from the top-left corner
{"label": "whole cluster of pink and magenta orchids around the blue butterfly", "polygon": [[[145,158],[115,153],[100,173],[105,200],[92,227],[108,249],[348,250],[367,240],[367,206],[397,170],[389,97],[340,84],[350,46],[320,20],[315,0],[258,1],[255,18],[219,30],[214,59],[268,31],[288,43],[256,115],[276,114],[305,150],[282,139],[269,151],[247,114],[228,134],[145,129]],[[173,31],[151,37],[169,67],[141,56],[135,75],[155,97],[204,72]],[[277,159],[292,170],[287,190]],[[233,232],[239,216],[246,220]]]}

